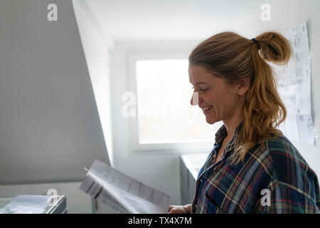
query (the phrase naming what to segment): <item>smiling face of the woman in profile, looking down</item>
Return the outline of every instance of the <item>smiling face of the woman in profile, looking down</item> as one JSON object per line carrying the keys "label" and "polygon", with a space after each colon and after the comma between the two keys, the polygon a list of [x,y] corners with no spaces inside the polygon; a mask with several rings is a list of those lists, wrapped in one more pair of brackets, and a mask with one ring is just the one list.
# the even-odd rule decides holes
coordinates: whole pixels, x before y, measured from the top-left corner
{"label": "smiling face of the woman in profile, looking down", "polygon": [[242,108],[244,94],[241,86],[230,85],[203,66],[189,65],[188,73],[193,94],[198,92],[198,103],[191,98],[191,105],[198,105],[203,110],[207,123],[225,122],[239,115],[237,110]]}

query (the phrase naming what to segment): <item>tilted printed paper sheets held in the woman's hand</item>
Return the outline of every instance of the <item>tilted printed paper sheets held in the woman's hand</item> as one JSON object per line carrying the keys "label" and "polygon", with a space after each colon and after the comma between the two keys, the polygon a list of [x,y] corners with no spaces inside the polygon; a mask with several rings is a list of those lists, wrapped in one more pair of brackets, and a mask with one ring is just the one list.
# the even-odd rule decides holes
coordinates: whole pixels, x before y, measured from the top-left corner
{"label": "tilted printed paper sheets held in the woman's hand", "polygon": [[169,194],[144,185],[100,160],[93,162],[80,190],[120,214],[164,214],[169,209]]}

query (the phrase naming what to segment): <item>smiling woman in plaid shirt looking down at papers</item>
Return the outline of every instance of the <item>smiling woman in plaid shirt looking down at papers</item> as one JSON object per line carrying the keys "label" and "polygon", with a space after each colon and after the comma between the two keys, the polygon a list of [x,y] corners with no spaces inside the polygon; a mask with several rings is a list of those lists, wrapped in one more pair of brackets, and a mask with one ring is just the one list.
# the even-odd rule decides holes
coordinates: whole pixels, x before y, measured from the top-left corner
{"label": "smiling woman in plaid shirt looking down at papers", "polygon": [[223,120],[198,174],[192,204],[169,213],[319,213],[319,183],[277,127],[286,109],[272,63],[287,63],[289,41],[275,32],[247,39],[224,32],[189,56],[189,80],[210,124]]}

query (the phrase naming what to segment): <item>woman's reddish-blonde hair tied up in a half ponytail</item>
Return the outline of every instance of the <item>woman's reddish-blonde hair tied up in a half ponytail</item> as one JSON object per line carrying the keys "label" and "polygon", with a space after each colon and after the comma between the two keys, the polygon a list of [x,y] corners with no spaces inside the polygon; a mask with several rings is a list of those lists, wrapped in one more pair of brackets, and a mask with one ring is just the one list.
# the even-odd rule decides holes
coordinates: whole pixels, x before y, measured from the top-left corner
{"label": "woman's reddish-blonde hair tied up in a half ponytail", "polygon": [[287,115],[274,72],[266,61],[287,63],[292,56],[290,43],[273,31],[262,33],[255,40],[233,32],[218,33],[196,46],[188,58],[190,64],[204,66],[228,83],[250,81],[243,106],[243,125],[235,143],[235,163],[243,160],[257,143],[263,147],[267,138],[282,134],[277,127]]}

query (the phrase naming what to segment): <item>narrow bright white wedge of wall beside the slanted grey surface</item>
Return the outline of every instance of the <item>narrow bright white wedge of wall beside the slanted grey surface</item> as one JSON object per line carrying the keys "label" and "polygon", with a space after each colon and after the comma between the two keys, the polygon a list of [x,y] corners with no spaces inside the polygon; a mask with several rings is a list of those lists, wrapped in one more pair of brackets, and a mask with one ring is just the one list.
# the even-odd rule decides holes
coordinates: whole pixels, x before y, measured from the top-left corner
{"label": "narrow bright white wedge of wall beside the slanted grey surface", "polygon": [[100,28],[95,14],[85,1],[73,0],[82,48],[95,94],[97,110],[112,165],[112,120],[110,110],[110,56],[111,38]]}

